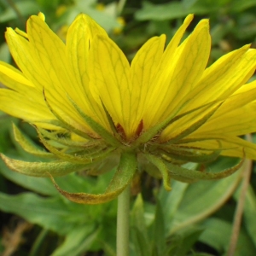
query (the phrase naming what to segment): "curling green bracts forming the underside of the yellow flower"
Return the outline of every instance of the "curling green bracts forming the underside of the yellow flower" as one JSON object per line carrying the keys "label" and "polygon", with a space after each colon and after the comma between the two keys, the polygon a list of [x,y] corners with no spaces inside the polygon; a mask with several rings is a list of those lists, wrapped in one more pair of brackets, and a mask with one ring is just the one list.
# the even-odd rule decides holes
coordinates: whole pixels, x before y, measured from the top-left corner
{"label": "curling green bracts forming the underside of the yellow flower", "polygon": [[[212,105],[216,105],[216,103],[212,103]],[[212,108],[211,113],[207,113],[201,120],[191,125],[188,131],[184,131],[183,134],[179,134],[177,137],[166,142],[159,140],[160,132],[167,125],[183,118],[183,116],[191,113],[191,111],[171,118],[170,120],[167,119],[165,122],[146,132],[143,132],[142,120],[137,129],[137,139],[132,143],[125,140],[124,130],[120,125],[115,126],[113,124],[113,120],[108,113],[109,125],[113,127],[113,135],[104,130],[101,125],[96,124],[90,117],[84,116],[84,120],[90,125],[92,130],[96,132],[101,131],[101,134],[104,135],[102,138],[87,136],[86,143],[84,141],[74,141],[67,131],[69,130],[79,137],[82,136],[81,132],[76,131],[70,125],[68,125],[67,130],[67,123],[59,117],[60,123],[58,125],[63,125],[62,131],[47,131],[43,128],[36,127],[38,137],[49,152],[39,150],[32,145],[14,125],[15,140],[20,143],[22,148],[31,154],[56,159],[56,161],[49,163],[30,163],[21,160],[12,160],[3,154],[2,158],[16,172],[32,176],[51,177],[56,189],[62,195],[71,201],[87,204],[98,204],[113,200],[113,198],[125,189],[128,183],[131,183],[132,177],[134,177],[136,172],[141,173],[146,171],[154,177],[162,177],[166,190],[171,190],[171,177],[187,183],[228,177],[241,167],[243,160],[236,166],[218,173],[194,171],[182,167],[188,162],[202,164],[216,160],[218,155],[224,150],[218,138],[215,139],[219,146],[217,149],[186,146],[186,142],[184,143],[183,141],[184,137],[187,137],[189,133],[195,131],[198,126],[205,123],[220,105],[221,103],[218,103],[215,108]],[[202,140],[207,140],[207,138],[202,138]],[[62,176],[76,171],[86,171],[89,175],[100,175],[103,172],[113,170],[115,166],[118,166],[118,169],[105,193],[101,195],[68,193],[62,190],[53,179],[53,176]]]}

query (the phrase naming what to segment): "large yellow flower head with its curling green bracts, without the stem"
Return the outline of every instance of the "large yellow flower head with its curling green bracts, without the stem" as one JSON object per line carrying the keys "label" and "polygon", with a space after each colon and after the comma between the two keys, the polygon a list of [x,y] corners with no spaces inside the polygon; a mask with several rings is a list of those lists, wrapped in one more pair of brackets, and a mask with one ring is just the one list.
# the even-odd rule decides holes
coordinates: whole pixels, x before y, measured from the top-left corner
{"label": "large yellow flower head with its curling green bracts, without the stem", "polygon": [[[33,176],[102,172],[118,166],[102,195],[59,191],[70,200],[100,203],[113,199],[135,172],[148,171],[182,181],[226,177],[224,172],[187,170],[186,162],[207,162],[219,154],[256,160],[256,147],[240,138],[256,131],[256,82],[245,84],[256,67],[256,50],[246,45],[207,67],[211,49],[208,20],[201,20],[183,43],[193,15],[172,41],[150,38],[131,61],[101,26],[79,15],[66,44],[32,16],[27,31],[7,29],[9,49],[20,70],[0,63],[0,109],[35,125],[50,153],[30,145],[15,127],[16,140],[29,152],[55,158],[49,163],[3,160]],[[55,147],[52,145],[55,142]],[[104,170],[104,168],[106,170]]]}

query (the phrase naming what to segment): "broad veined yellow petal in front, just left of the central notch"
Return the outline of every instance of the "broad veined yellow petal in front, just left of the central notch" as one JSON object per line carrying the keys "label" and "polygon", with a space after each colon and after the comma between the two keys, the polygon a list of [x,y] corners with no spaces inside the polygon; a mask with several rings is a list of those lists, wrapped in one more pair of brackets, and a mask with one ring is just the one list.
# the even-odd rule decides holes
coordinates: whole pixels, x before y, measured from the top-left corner
{"label": "broad veined yellow petal in front, just left of the central notch", "polygon": [[123,127],[127,138],[132,137],[137,129],[133,121],[137,91],[131,86],[129,62],[111,39],[96,36],[93,40],[89,72],[96,100],[102,100],[113,121]]}

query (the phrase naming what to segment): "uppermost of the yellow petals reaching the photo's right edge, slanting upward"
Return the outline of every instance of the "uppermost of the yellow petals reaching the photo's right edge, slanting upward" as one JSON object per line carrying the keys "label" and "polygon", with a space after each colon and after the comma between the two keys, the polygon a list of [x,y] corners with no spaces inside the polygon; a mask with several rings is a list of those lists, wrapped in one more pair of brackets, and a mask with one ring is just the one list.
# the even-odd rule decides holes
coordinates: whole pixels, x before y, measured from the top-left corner
{"label": "uppermost of the yellow petals reaching the photo's right edge, slanting upward", "polygon": [[221,57],[204,72],[190,94],[191,102],[183,109],[196,108],[207,102],[224,100],[247,82],[256,67],[256,50],[243,46]]}

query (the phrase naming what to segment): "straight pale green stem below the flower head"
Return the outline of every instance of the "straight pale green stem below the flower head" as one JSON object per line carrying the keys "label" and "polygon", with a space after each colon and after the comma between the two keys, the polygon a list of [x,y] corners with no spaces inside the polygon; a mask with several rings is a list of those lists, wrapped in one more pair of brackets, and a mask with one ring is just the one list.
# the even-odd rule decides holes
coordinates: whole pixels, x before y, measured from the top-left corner
{"label": "straight pale green stem below the flower head", "polygon": [[129,256],[130,185],[118,197],[117,256]]}

